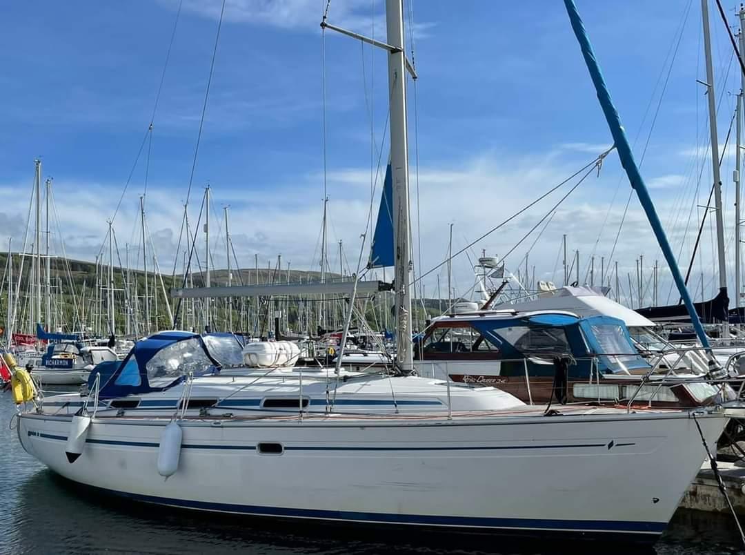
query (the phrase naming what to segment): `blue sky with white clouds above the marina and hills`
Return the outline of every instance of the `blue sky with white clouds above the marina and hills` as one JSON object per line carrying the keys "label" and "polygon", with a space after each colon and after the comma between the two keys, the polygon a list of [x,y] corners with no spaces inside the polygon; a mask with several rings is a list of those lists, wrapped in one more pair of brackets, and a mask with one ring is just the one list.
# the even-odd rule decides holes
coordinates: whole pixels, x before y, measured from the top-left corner
{"label": "blue sky with white clouds above the marina and hills", "polygon": [[[183,0],[153,120],[148,226],[164,267],[174,260],[220,4]],[[195,221],[209,181],[214,221],[229,204],[233,241],[246,266],[254,254],[265,261],[282,252],[294,268],[317,267],[324,108],[318,24],[325,4],[226,4],[189,211]],[[179,1],[92,5],[15,2],[5,5],[0,17],[0,221],[6,222],[0,240],[13,235],[14,244],[22,242],[33,160],[41,156],[45,176],[54,176],[59,234],[69,254],[89,260],[98,253],[148,128]],[[628,134],[641,136],[638,155],[668,72],[668,53],[680,40],[643,173],[673,247],[687,262],[700,210],[694,207],[691,221],[688,214],[705,201],[711,182],[706,98],[695,81],[706,78],[699,4],[578,0],[577,5]],[[449,222],[455,224],[458,248],[592,160],[610,139],[562,2],[419,0],[406,4],[410,7],[419,72],[416,134],[409,88],[411,175],[414,185],[416,138],[426,270],[443,259]],[[734,24],[734,4],[726,7]],[[383,38],[383,8],[381,0],[332,0],[329,21]],[[713,3],[710,12],[717,96],[723,92],[723,142],[739,75]],[[355,266],[370,205],[371,134],[376,149],[387,148],[387,142],[381,145],[386,59],[383,52],[330,31],[325,53],[329,243],[342,239],[349,266]],[[728,232],[734,221],[731,153],[729,148],[722,172]],[[144,178],[145,154],[115,222],[120,246],[138,242],[136,209]],[[694,200],[697,185],[700,199]],[[554,269],[562,233],[568,234],[570,250],[580,250],[583,275],[592,252],[608,256],[628,191],[612,154],[600,178],[580,186],[536,242],[529,259],[536,275],[559,278]],[[551,199],[474,251],[509,251],[550,205]],[[508,263],[520,263],[533,239]],[[216,236],[215,251],[222,252],[219,240]],[[635,198],[619,242],[614,260],[624,278],[635,271],[639,254],[646,260],[660,257]],[[703,245],[700,269],[708,292],[714,286],[709,234]],[[215,254],[215,263],[224,266],[220,256]],[[336,255],[329,256],[337,267]],[[466,291],[469,261],[461,257],[456,266],[458,286]]]}

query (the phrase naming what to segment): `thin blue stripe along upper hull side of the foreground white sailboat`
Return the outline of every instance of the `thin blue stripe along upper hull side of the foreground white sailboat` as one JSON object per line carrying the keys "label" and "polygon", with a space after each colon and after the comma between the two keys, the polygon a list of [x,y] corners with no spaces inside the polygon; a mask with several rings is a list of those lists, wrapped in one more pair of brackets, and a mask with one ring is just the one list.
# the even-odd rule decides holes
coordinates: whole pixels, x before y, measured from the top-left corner
{"label": "thin blue stripe along upper hull side of the foreground white sailboat", "polygon": [[[66,436],[55,436],[50,433],[36,432],[28,430],[28,436],[37,436],[43,439],[57,439],[66,442]],[[153,447],[157,448],[159,444],[154,442],[128,442],[116,439],[86,439],[86,443],[93,445],[126,445],[130,447]],[[633,443],[617,444],[635,445]],[[426,447],[355,447],[355,446],[335,446],[335,445],[286,445],[285,451],[533,451],[536,449],[589,449],[589,448],[607,448],[606,443],[574,443],[563,445],[469,445],[464,447],[440,447],[437,445]],[[184,449],[219,449],[223,451],[256,451],[256,445],[209,445],[189,444],[182,445]]]}

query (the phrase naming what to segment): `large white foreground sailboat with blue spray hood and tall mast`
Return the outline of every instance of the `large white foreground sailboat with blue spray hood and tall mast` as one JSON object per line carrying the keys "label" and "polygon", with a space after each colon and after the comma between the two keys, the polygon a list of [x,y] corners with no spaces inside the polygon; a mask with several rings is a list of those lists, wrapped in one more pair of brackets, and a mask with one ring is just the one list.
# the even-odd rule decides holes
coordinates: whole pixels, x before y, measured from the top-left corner
{"label": "large white foreground sailboat with blue spray hood and tall mast", "polygon": [[22,411],[20,442],[77,483],[172,507],[654,541],[700,468],[701,436],[711,445],[724,427],[720,407],[548,411],[408,375],[402,0],[386,8],[387,44],[377,44],[389,52],[400,375],[197,376],[218,360],[204,351],[187,363],[178,345],[190,339],[174,333],[175,351],[160,337],[149,359],[130,355],[88,398]]}

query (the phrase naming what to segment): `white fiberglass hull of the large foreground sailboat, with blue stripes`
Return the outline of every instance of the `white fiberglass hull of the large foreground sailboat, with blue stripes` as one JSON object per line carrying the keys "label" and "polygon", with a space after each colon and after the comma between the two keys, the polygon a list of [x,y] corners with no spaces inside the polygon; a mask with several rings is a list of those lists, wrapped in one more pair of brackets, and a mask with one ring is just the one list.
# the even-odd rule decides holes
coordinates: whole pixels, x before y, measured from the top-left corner
{"label": "white fiberglass hull of the large foreground sailboat, with blue stripes", "polygon": [[[24,413],[25,450],[78,483],[156,504],[245,515],[654,542],[704,452],[686,413],[187,418],[178,469],[159,475],[168,418]],[[709,445],[726,419],[700,416]],[[281,454],[261,454],[266,444]]]}

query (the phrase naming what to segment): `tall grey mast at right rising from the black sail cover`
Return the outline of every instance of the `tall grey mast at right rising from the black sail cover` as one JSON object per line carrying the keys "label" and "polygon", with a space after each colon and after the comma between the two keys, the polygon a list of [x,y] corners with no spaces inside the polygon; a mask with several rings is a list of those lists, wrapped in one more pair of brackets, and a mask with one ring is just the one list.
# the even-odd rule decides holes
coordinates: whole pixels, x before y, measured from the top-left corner
{"label": "tall grey mast at right rising from the black sail cover", "polygon": [[[714,174],[714,206],[717,218],[717,256],[719,258],[719,289],[726,296],[727,269],[724,258],[724,220],[722,210],[722,179],[719,167],[719,142],[717,140],[717,106],[714,95],[714,67],[711,63],[711,37],[708,25],[708,0],[701,0],[703,46],[706,55],[706,84],[708,86],[708,128],[711,134],[711,170]],[[723,337],[729,337],[729,326],[723,326]]]}

